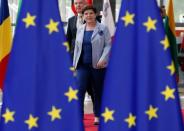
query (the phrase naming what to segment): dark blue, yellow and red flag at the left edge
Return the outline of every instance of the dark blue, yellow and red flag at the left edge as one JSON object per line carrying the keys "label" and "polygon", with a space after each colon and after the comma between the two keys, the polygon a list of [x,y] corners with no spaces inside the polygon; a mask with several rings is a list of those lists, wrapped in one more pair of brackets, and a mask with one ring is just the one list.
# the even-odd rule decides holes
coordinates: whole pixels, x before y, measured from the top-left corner
{"label": "dark blue, yellow and red flag at the left edge", "polygon": [[8,1],[0,0],[0,88],[2,89],[11,50],[11,24]]}

